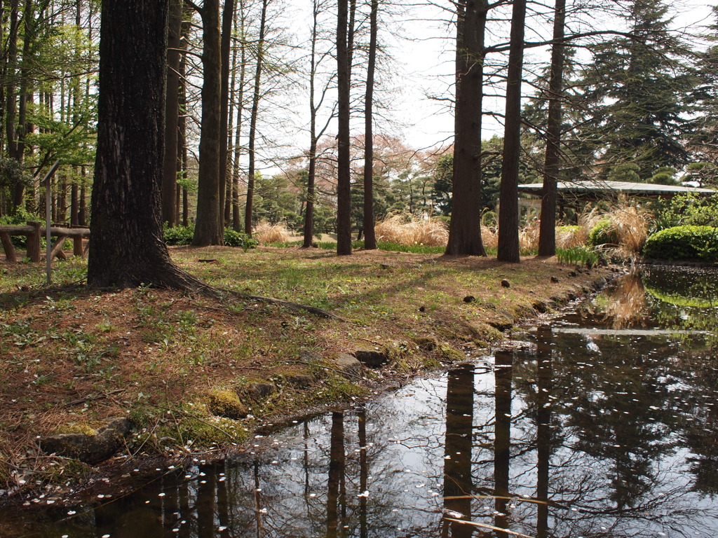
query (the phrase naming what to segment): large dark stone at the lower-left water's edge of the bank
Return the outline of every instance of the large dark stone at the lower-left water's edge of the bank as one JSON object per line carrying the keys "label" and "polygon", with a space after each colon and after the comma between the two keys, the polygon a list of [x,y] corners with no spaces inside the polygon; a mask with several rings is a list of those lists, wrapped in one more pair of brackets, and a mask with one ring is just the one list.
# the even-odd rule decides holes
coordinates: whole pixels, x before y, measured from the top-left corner
{"label": "large dark stone at the lower-left water's edge of the bank", "polygon": [[60,433],[40,440],[40,447],[47,454],[76,458],[85,463],[99,463],[113,456],[124,446],[124,438],[130,433],[131,422],[116,418],[108,425],[87,433]]}

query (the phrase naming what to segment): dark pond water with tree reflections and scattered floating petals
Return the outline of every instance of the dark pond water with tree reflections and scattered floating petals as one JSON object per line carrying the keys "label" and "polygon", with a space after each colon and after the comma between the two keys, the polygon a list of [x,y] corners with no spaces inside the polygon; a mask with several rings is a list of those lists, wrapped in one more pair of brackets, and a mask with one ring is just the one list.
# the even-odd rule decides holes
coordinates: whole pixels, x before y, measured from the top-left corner
{"label": "dark pond water with tree reflections and scattered floating petals", "polygon": [[515,349],[28,536],[714,537],[716,276],[627,275]]}

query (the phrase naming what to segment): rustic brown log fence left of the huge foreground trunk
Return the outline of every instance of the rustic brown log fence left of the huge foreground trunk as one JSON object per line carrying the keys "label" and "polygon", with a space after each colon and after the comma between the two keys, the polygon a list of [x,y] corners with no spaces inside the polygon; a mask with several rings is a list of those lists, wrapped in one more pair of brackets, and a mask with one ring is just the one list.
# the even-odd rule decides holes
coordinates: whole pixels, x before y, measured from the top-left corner
{"label": "rustic brown log fence left of the huge foreground trunk", "polygon": [[[40,260],[40,240],[42,237],[45,237],[46,233],[47,229],[37,221],[28,222],[27,226],[0,225],[0,241],[2,242],[6,260],[9,262],[17,262],[15,248],[10,237],[12,235],[24,235],[27,237],[27,258],[34,263],[38,263]],[[56,237],[52,245],[49,246],[52,259],[60,258],[61,260],[65,260],[65,258],[67,258],[65,253],[62,252],[62,245],[65,244],[65,240],[67,239],[73,240],[73,255],[82,256],[83,258],[87,255],[90,243],[85,243],[83,247],[83,239],[90,237],[89,228],[50,226],[50,235]]]}

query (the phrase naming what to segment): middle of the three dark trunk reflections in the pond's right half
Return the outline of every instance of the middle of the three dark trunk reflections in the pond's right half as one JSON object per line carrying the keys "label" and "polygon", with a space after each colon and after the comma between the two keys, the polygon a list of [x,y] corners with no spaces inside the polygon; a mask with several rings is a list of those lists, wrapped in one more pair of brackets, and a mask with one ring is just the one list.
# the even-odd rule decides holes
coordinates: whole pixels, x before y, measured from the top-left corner
{"label": "middle of the three dark trunk reflections in the pond's right half", "polygon": [[[494,524],[501,529],[508,528],[508,466],[511,453],[511,377],[513,355],[509,352],[496,353],[496,425],[494,438],[494,495],[497,497]],[[505,532],[496,532],[499,538],[508,538]]]}

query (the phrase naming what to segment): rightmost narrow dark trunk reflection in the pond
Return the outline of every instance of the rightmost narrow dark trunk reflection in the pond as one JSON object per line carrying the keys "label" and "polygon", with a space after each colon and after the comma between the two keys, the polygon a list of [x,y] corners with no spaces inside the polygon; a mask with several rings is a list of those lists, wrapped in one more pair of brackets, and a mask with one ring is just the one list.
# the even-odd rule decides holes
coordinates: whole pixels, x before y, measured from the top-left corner
{"label": "rightmost narrow dark trunk reflection in the pond", "polygon": [[551,407],[549,394],[553,367],[551,365],[551,326],[538,326],[536,331],[538,360],[538,396],[536,397],[536,538],[549,536],[549,460],[551,458]]}

